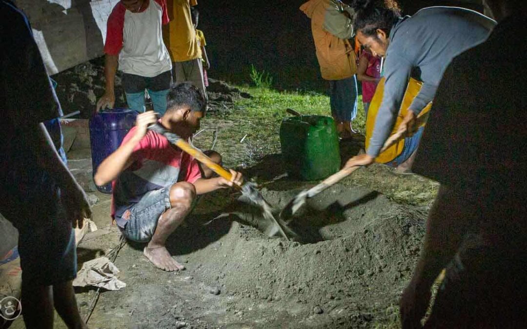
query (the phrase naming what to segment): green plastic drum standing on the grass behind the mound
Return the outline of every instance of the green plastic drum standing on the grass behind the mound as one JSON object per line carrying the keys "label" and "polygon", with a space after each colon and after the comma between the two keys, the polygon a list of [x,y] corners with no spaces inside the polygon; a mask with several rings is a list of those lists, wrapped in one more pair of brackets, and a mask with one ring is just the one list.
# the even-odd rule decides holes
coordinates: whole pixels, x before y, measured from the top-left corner
{"label": "green plastic drum standing on the grass behind the mound", "polygon": [[316,181],[340,169],[337,129],[330,116],[285,118],[280,125],[280,144],[290,177]]}

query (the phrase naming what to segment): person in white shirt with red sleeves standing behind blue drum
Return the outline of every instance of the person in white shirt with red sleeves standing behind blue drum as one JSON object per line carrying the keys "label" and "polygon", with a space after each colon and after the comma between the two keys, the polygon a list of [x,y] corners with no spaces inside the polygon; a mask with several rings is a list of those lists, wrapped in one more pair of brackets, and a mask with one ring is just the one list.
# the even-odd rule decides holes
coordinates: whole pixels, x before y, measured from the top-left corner
{"label": "person in white shirt with red sleeves standing behind blue drum", "polygon": [[113,108],[115,72],[119,67],[128,107],[144,112],[147,89],[154,111],[164,113],[172,62],[161,26],[168,22],[166,0],[122,0],[115,5],[108,17],[104,44],[106,88],[97,102],[97,111]]}

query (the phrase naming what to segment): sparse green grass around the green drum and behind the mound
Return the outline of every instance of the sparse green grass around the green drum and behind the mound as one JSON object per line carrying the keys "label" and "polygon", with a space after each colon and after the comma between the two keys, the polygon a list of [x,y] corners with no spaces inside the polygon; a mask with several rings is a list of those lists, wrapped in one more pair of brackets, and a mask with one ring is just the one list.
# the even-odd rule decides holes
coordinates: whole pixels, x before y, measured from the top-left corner
{"label": "sparse green grass around the green drum and behind the mound", "polygon": [[[280,92],[269,88],[239,87],[252,98],[238,98],[224,113],[211,113],[202,121],[203,128],[218,129],[216,151],[223,155],[227,167],[257,164],[269,154],[280,153],[280,123],[290,116],[286,108],[301,114],[331,115],[329,97],[316,92]],[[358,98],[357,117],[353,127],[365,133],[362,97]],[[211,134],[197,138],[197,145],[210,148]],[[277,175],[280,173],[277,173]],[[376,164],[356,171],[343,184],[359,184],[383,193],[391,200],[429,206],[438,184],[421,176],[396,175],[387,166]]]}

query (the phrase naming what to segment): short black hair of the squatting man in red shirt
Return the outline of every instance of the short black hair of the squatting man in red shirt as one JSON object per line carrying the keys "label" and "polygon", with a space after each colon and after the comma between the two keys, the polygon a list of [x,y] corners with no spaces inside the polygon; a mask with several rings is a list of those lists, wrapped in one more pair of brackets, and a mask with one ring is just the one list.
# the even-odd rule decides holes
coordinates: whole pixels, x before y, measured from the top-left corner
{"label": "short black hair of the squatting man in red shirt", "polygon": [[207,104],[200,89],[189,82],[170,87],[167,95],[167,112],[183,106],[190,106],[191,111],[205,112]]}

